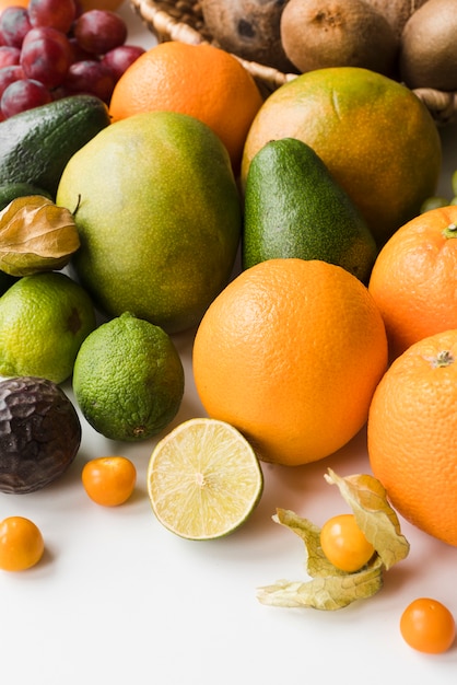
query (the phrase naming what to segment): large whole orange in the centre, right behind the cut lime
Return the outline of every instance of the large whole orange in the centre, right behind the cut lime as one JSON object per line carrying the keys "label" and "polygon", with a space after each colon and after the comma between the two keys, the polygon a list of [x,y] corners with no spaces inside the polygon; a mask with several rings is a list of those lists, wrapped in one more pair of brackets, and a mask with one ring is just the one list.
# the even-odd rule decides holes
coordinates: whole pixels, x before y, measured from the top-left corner
{"label": "large whole orange in the centre, right behind the cut lime", "polygon": [[269,259],[237,276],[197,329],[196,388],[267,462],[300,465],[363,427],[387,360],[367,288],[320,260]]}

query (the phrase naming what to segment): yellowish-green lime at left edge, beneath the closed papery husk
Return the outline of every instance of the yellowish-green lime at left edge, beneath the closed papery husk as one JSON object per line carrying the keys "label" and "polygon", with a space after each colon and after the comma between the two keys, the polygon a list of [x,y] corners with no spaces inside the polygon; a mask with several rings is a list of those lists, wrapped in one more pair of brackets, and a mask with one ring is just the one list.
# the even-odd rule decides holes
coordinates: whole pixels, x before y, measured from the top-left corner
{"label": "yellowish-green lime at left edge, beneath the closed papery husk", "polygon": [[49,271],[20,278],[0,300],[0,374],[62,383],[95,323],[91,298],[69,276]]}

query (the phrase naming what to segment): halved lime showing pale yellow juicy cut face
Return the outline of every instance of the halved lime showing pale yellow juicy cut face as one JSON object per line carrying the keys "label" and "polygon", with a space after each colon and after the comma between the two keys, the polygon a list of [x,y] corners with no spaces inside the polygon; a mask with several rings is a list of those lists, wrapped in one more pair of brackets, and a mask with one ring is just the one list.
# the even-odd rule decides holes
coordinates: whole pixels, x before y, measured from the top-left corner
{"label": "halved lime showing pale yellow juicy cut face", "polygon": [[233,533],[260,500],[263,476],[253,448],[224,421],[194,418],[155,446],[148,492],[159,521],[189,539]]}

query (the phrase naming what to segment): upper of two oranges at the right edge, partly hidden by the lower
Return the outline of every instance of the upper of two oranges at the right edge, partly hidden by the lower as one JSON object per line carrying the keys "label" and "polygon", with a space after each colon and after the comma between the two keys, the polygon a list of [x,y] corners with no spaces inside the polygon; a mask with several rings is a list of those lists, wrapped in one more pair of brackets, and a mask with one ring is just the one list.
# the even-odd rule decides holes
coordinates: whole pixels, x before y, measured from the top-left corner
{"label": "upper of two oranges at the right edge, partly hidden by the lower", "polygon": [[457,328],[457,206],[432,209],[398,229],[376,258],[368,289],[391,359],[421,338]]}

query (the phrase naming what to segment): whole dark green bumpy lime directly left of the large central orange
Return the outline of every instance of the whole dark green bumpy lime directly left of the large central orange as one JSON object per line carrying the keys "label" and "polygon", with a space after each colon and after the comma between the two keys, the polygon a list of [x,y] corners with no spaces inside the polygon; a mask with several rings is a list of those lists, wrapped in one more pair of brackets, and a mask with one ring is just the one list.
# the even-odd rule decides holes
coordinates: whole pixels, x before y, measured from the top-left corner
{"label": "whole dark green bumpy lime directly left of the large central orange", "polygon": [[125,312],[84,340],[73,392],[84,418],[105,438],[145,440],[177,414],[184,369],[162,328]]}

